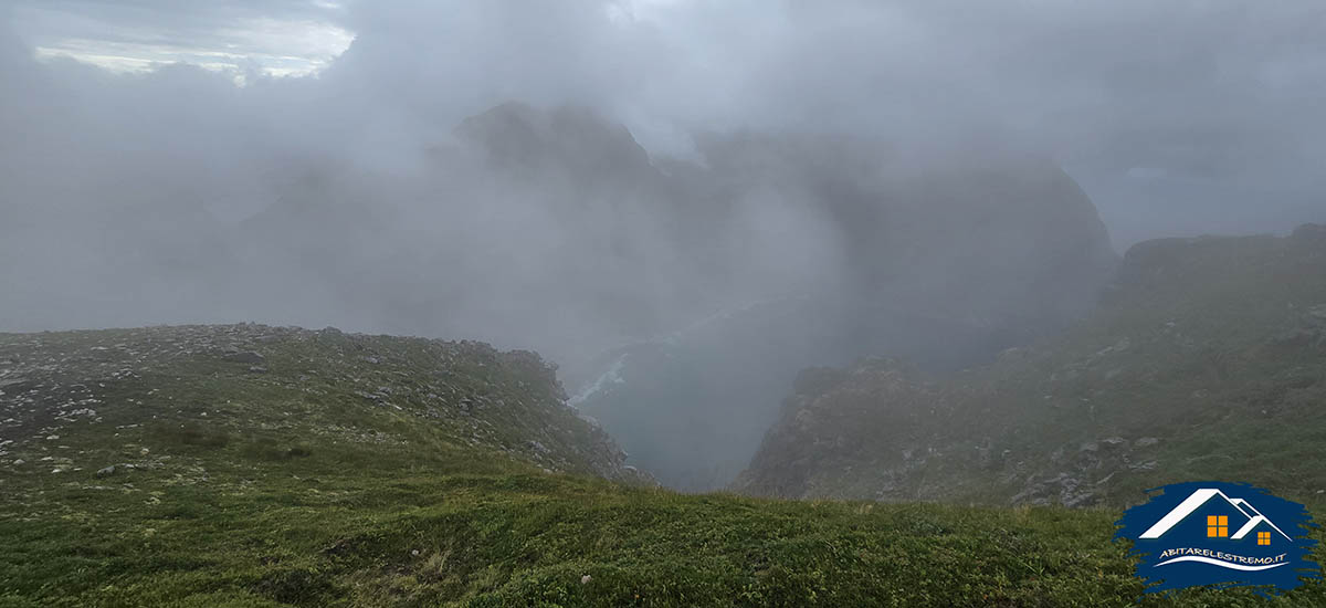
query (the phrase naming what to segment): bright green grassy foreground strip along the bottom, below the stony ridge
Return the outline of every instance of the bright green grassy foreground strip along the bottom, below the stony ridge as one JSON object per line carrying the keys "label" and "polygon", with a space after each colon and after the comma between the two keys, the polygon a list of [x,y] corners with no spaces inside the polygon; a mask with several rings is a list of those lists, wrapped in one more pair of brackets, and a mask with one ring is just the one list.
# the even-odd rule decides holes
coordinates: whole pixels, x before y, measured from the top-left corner
{"label": "bright green grassy foreground strip along the bottom, below the stony ridge", "polygon": [[[545,474],[152,471],[0,511],[0,605],[1128,605],[1111,511],[678,495]],[[587,579],[586,579],[587,577]],[[1313,584],[1142,605],[1326,605]]]}

